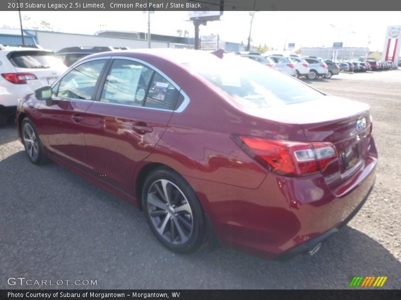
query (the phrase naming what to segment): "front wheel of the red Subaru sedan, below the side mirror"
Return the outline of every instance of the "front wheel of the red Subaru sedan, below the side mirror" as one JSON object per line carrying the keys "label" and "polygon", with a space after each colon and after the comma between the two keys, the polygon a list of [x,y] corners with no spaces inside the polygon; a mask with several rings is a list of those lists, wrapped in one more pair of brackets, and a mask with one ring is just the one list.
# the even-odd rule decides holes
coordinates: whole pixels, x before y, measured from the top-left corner
{"label": "front wheel of the red Subaru sedan, below the side mirror", "polygon": [[45,148],[39,139],[34,123],[29,117],[24,118],[22,121],[21,137],[25,152],[32,163],[43,164],[48,161]]}

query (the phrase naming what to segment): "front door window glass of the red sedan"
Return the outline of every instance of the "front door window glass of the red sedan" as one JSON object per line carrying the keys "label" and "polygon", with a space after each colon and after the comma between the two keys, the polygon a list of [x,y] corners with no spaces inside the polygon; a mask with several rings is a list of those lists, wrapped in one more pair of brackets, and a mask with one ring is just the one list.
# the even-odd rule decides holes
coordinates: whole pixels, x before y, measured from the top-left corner
{"label": "front door window glass of the red sedan", "polygon": [[105,62],[106,59],[92,60],[73,68],[60,80],[56,96],[90,100]]}

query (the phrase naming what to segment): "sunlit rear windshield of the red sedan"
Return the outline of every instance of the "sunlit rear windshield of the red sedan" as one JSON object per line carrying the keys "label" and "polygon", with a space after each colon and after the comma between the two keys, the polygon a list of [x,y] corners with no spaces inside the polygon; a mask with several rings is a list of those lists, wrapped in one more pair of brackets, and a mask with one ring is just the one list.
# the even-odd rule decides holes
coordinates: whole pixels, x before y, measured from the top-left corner
{"label": "sunlit rear windshield of the red sedan", "polygon": [[323,95],[305,83],[251,59],[234,55],[226,55],[223,59],[211,56],[184,65],[242,105],[269,107],[309,101]]}

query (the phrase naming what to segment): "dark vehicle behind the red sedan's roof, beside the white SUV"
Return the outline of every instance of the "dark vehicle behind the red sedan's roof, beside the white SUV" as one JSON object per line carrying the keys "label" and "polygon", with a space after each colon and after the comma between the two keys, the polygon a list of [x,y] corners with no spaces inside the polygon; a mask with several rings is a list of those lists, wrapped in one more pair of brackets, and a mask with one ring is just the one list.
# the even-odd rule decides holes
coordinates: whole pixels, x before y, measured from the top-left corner
{"label": "dark vehicle behind the red sedan's roof, beside the white SUV", "polygon": [[56,52],[63,63],[67,66],[73,65],[76,61],[82,57],[88,56],[93,53],[115,51],[115,50],[127,50],[128,47],[110,47],[110,46],[89,46],[89,47],[66,47]]}

